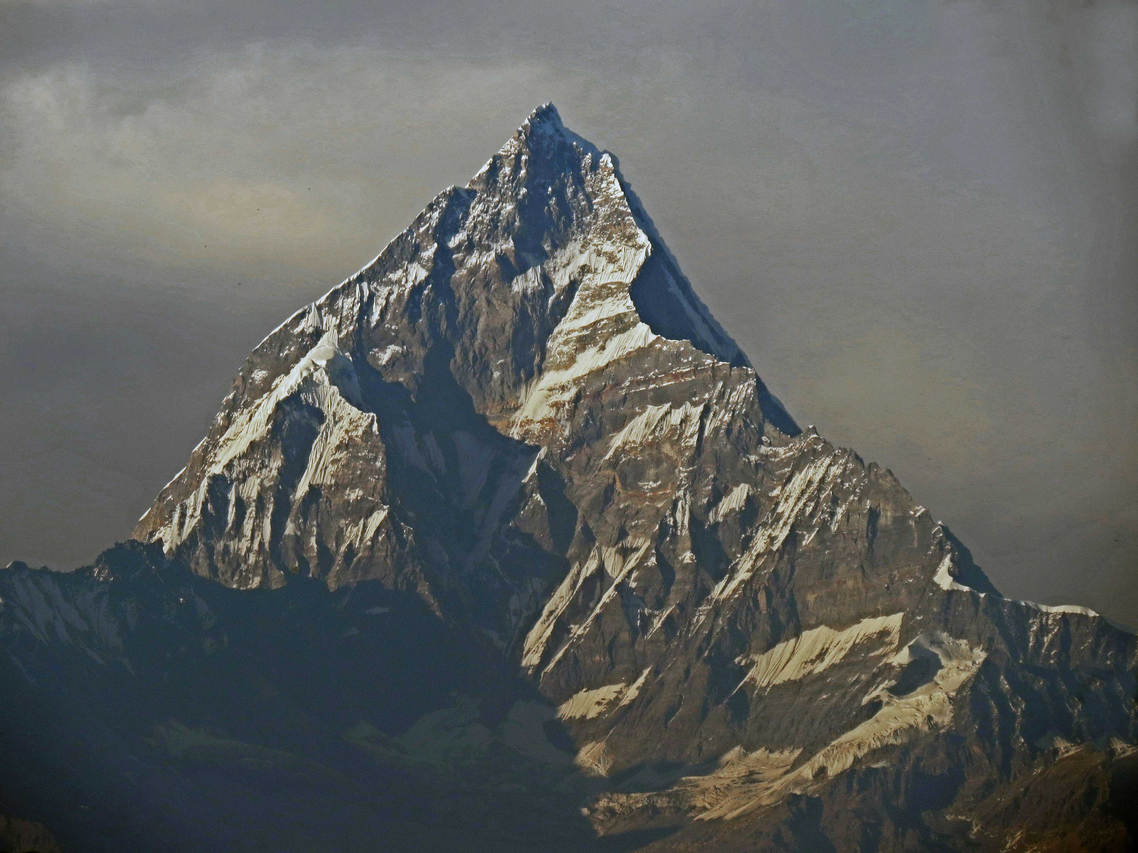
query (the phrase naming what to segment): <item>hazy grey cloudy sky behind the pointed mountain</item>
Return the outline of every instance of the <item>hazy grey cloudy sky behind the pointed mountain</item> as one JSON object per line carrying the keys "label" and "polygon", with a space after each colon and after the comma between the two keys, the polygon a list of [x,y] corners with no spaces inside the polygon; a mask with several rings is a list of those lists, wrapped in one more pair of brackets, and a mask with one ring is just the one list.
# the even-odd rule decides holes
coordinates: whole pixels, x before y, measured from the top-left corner
{"label": "hazy grey cloudy sky behind the pointed mountain", "polygon": [[90,561],[247,351],[538,102],[802,424],[1138,624],[1138,3],[0,0],[0,563]]}

